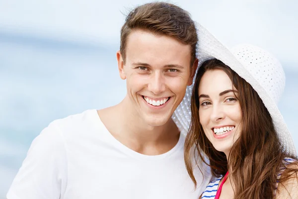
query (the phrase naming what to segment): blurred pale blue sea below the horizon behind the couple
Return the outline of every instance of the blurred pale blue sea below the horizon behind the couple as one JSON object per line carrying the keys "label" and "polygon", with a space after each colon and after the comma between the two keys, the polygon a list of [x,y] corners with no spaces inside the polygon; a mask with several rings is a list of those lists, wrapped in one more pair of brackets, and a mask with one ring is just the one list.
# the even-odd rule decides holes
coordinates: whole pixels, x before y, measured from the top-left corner
{"label": "blurred pale blue sea below the horizon behind the couple", "polygon": [[[30,143],[49,122],[124,98],[117,50],[118,46],[0,32],[0,198]],[[287,81],[279,106],[298,148],[298,69],[293,70],[295,63],[281,62]]]}

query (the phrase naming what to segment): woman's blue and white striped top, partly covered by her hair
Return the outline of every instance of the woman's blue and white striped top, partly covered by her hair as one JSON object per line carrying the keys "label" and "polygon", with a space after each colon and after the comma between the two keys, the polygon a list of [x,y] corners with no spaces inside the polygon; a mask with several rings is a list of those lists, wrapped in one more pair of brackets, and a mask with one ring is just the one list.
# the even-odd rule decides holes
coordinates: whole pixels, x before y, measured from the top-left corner
{"label": "woman's blue and white striped top, partly covered by her hair", "polygon": [[[285,158],[284,159],[284,164],[285,165],[289,165],[291,164],[292,162],[294,162],[296,160],[292,159],[292,158]],[[283,173],[283,171],[285,170],[286,168],[283,167],[281,168],[281,173]],[[281,176],[281,173],[278,175],[278,179],[279,177]],[[217,190],[219,188],[219,183],[220,181],[222,180],[223,176],[220,176],[219,178],[211,181],[208,186],[206,187],[205,191],[203,192],[202,194],[202,197],[201,199],[215,199],[215,196],[216,196],[216,193],[217,193]],[[278,183],[278,182],[277,182]],[[276,186],[277,187],[277,186]]]}

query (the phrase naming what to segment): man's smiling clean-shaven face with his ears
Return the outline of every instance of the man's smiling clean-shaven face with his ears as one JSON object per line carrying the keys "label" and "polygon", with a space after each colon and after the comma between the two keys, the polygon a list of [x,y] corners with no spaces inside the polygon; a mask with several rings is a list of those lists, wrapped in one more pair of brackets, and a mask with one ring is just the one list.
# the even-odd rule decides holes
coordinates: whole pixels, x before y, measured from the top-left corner
{"label": "man's smiling clean-shaven face with his ears", "polygon": [[150,126],[163,125],[192,84],[198,62],[190,67],[190,45],[168,36],[137,30],[127,39],[126,63],[119,51],[117,59],[135,115]]}

